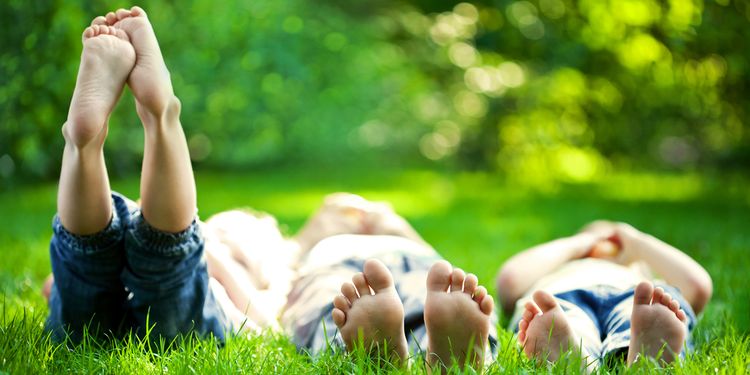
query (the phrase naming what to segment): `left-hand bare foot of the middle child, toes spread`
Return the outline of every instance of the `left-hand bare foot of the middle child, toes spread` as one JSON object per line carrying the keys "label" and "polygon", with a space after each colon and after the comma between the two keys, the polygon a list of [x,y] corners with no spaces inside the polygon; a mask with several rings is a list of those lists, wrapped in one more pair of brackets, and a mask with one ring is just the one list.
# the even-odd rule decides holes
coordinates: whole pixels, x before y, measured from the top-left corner
{"label": "left-hand bare foot of the middle child, toes spread", "polygon": [[375,259],[365,262],[364,272],[341,286],[341,295],[333,299],[333,305],[333,321],[349,351],[360,345],[361,337],[365,350],[405,363],[404,306],[383,263]]}

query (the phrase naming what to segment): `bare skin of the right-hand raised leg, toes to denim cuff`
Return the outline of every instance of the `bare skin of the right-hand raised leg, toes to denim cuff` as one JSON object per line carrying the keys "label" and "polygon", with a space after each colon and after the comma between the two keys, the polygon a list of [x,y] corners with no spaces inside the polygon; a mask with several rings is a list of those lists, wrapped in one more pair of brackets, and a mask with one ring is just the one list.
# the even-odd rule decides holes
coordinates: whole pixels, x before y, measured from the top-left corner
{"label": "bare skin of the right-hand raised leg, toes to denim cuff", "polygon": [[143,217],[161,231],[185,230],[195,218],[195,179],[180,123],[180,101],[174,96],[154,29],[139,7],[110,12],[98,22],[125,31],[135,49],[136,64],[128,85],[145,129]]}

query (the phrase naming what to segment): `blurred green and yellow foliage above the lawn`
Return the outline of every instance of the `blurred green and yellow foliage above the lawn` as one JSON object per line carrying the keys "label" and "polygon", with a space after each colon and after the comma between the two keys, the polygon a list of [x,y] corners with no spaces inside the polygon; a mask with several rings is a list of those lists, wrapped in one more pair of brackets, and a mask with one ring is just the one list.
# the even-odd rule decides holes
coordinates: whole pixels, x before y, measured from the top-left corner
{"label": "blurred green and yellow foliage above the lawn", "polygon": [[[0,183],[51,178],[80,34],[120,1],[0,4]],[[750,162],[739,0],[152,1],[197,168],[439,165],[587,181]],[[137,172],[129,94],[110,172]]]}

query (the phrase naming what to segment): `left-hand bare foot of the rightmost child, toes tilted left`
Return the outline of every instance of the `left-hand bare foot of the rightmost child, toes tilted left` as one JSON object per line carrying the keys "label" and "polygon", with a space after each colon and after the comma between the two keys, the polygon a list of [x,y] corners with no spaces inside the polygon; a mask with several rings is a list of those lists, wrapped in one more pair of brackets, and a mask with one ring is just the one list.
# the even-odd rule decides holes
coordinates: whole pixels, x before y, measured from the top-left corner
{"label": "left-hand bare foot of the rightmost child, toes tilted left", "polygon": [[527,302],[518,322],[518,342],[529,359],[554,362],[570,349],[580,350],[578,339],[560,305],[549,293],[538,290]]}

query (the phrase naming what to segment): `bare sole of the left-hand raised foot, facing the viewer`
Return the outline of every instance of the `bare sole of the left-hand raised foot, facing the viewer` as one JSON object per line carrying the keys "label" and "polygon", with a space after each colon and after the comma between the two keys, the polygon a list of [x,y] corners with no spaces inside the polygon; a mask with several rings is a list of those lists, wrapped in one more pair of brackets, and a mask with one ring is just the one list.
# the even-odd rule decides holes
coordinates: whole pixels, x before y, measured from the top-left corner
{"label": "bare sole of the left-hand raised foot, facing the viewer", "polygon": [[107,120],[134,63],[135,51],[122,30],[93,25],[83,31],[81,65],[63,126],[66,141],[79,148],[104,143]]}

